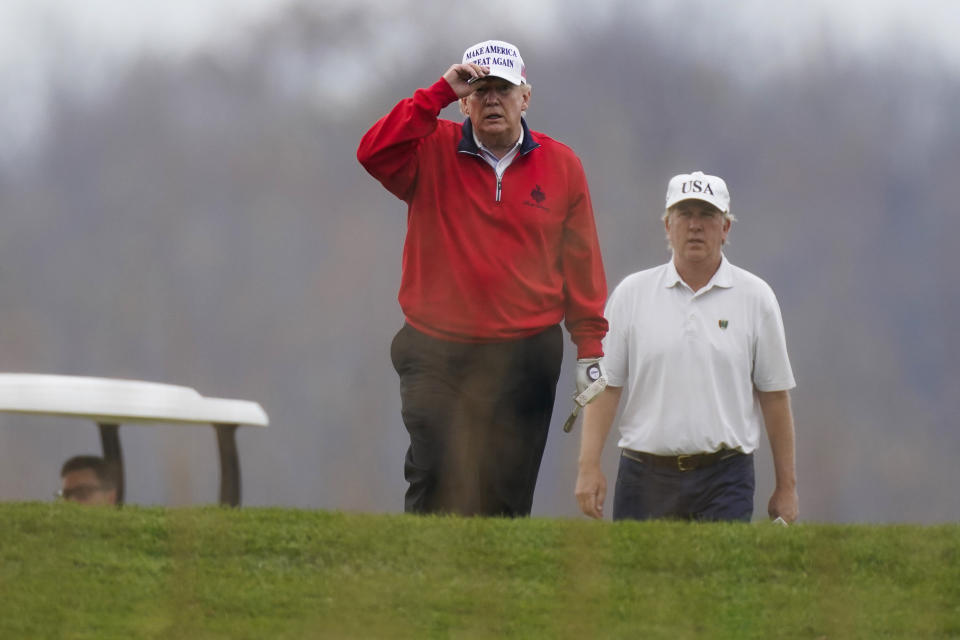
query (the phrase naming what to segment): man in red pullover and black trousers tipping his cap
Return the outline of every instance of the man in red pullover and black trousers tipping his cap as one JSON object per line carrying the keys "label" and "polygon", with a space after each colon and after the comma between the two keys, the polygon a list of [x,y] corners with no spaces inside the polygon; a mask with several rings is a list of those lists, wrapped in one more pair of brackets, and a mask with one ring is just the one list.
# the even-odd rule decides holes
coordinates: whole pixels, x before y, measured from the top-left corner
{"label": "man in red pullover and black trousers tipping his cap", "polygon": [[[462,125],[439,119],[455,100]],[[603,382],[607,289],[586,177],[569,147],[527,127],[529,103],[517,48],[481,42],[357,151],[408,206],[406,322],[391,345],[410,435],[407,512],[529,515],[561,320],[577,346],[578,403]]]}

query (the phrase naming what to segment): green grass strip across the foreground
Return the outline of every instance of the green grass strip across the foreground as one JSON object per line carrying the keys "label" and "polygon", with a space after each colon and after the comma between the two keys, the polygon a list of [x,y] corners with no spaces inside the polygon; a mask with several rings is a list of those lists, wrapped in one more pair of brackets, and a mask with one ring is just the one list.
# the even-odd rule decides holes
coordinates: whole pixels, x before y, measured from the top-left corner
{"label": "green grass strip across the foreground", "polygon": [[0,504],[0,638],[958,638],[960,526]]}

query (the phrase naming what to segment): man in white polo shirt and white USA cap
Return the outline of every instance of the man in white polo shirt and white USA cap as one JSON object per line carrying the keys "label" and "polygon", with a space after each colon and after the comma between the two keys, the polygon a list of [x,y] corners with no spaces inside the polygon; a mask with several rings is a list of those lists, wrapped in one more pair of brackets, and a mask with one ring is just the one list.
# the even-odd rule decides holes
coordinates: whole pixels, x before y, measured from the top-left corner
{"label": "man in white polo shirt and white USA cap", "polygon": [[734,217],[722,179],[674,176],[663,220],[673,259],[628,276],[607,301],[608,384],[585,409],[577,501],[603,517],[600,457],[622,398],[614,520],[750,520],[765,426],[768,512],[792,522],[795,383],[776,296],[723,255]]}

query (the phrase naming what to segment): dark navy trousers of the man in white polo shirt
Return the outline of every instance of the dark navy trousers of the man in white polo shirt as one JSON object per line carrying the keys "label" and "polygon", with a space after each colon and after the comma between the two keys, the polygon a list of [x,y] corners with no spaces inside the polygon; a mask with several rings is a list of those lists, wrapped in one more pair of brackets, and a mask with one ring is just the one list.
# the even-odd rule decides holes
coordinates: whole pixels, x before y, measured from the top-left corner
{"label": "dark navy trousers of the man in white polo shirt", "polygon": [[753,455],[735,455],[692,471],[620,455],[614,520],[742,520],[753,515]]}

